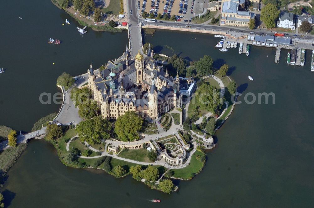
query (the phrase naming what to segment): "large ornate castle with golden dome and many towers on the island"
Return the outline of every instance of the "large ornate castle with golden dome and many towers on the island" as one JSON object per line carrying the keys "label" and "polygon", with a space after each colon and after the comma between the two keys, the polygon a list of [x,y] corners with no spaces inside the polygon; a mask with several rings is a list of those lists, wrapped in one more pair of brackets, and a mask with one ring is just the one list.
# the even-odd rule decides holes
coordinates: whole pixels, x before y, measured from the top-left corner
{"label": "large ornate castle with golden dome and many towers on the island", "polygon": [[120,58],[109,60],[104,69],[93,70],[90,65],[88,87],[103,118],[116,119],[127,111],[135,111],[145,119],[157,120],[162,113],[182,106],[185,92],[181,90],[194,90],[194,79],[179,75],[173,78],[167,69],[157,65],[153,55],[149,47],[145,58],[138,51],[131,59],[126,48]]}

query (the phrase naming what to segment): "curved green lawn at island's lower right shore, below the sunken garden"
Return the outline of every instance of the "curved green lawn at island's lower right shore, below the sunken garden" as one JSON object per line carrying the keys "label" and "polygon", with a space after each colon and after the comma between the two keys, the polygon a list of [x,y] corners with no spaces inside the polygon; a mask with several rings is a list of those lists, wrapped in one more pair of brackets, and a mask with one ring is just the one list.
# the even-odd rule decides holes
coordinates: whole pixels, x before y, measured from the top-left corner
{"label": "curved green lawn at island's lower right shore, below the sunken garden", "polygon": [[173,170],[174,174],[173,176],[176,178],[182,178],[182,179],[191,179],[193,177],[193,173],[198,173],[202,167],[203,163],[196,159],[197,155],[205,155],[203,152],[196,151],[191,158],[190,164],[181,169],[171,169]]}

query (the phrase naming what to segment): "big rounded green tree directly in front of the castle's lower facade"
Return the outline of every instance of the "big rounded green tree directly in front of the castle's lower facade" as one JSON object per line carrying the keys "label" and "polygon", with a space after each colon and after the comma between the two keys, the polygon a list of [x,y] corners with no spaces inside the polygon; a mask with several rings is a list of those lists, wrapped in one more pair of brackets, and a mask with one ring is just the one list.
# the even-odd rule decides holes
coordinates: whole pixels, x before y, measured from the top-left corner
{"label": "big rounded green tree directly in front of the castle's lower facade", "polygon": [[123,116],[119,116],[115,123],[115,133],[119,140],[123,142],[136,141],[139,139],[138,131],[141,130],[143,119],[136,115],[134,111],[127,111]]}

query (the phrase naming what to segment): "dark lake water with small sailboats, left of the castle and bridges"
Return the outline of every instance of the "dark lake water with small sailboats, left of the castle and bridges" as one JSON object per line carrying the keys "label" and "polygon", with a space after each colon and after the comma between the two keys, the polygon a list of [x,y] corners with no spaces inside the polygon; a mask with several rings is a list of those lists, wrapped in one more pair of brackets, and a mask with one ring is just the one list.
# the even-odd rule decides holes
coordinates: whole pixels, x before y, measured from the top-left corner
{"label": "dark lake water with small sailboats, left of the castle and bridges", "polygon": [[[127,33],[87,29],[82,37],[79,25],[50,0],[1,1],[0,13],[0,67],[6,69],[0,75],[0,125],[16,130],[30,131],[38,119],[59,111],[60,105],[42,105],[39,96],[60,91],[62,72],[86,73],[90,62],[97,68],[122,55],[128,43]],[[49,38],[62,44],[48,44]]]}

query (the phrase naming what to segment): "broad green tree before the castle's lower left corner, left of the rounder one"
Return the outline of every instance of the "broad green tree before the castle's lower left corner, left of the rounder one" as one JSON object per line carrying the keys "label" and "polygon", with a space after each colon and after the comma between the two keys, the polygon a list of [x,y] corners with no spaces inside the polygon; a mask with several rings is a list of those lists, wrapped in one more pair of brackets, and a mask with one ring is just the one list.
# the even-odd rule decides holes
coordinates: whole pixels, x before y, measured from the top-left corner
{"label": "broad green tree before the castle's lower left corner, left of the rounder one", "polygon": [[111,123],[100,116],[81,121],[76,126],[76,132],[80,141],[86,141],[89,144],[100,143],[100,139],[110,138],[110,130]]}

